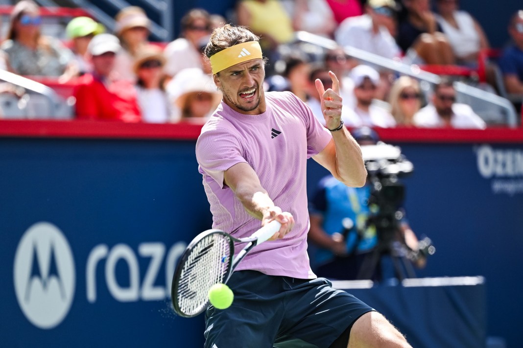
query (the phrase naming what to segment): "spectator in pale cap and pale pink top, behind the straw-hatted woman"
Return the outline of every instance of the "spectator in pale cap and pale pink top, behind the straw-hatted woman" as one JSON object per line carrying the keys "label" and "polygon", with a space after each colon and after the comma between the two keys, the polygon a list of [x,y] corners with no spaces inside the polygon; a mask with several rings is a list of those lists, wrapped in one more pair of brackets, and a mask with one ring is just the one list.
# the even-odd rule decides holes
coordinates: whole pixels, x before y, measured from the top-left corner
{"label": "spectator in pale cap and pale pink top, behind the straw-hatted woman", "polygon": [[133,71],[134,61],[149,44],[147,38],[151,21],[138,6],[122,8],[115,19],[115,34],[122,45],[122,49],[116,55],[115,72],[120,74],[120,78],[134,84],[137,80]]}

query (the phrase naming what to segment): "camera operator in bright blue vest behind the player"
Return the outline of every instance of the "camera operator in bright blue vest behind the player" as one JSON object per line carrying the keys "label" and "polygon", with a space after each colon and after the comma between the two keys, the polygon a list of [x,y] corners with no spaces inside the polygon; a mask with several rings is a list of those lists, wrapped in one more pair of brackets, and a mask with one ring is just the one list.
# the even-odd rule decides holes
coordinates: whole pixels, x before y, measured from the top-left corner
{"label": "camera operator in bright blue vest behind the player", "polygon": [[[351,134],[360,145],[379,142],[378,134],[369,127],[354,129]],[[372,204],[375,189],[370,174],[371,171],[361,188],[349,188],[329,175],[320,181],[313,194],[309,202],[312,244],[309,252],[318,276],[338,280],[382,279],[380,260],[371,260],[381,258],[383,231],[380,223],[373,222],[379,213]],[[395,208],[399,214],[396,214],[397,223],[393,224],[393,237],[389,239],[407,250],[404,255],[407,262],[423,268],[426,258],[418,252],[418,239],[404,217],[401,204]],[[362,274],[362,267],[368,269],[369,261],[371,272]]]}

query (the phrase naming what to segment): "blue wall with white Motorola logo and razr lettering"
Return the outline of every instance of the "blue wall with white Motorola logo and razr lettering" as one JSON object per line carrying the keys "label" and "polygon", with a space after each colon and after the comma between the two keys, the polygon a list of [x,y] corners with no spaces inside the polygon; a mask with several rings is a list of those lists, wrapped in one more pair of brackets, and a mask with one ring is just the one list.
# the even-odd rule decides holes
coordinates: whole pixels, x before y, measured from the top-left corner
{"label": "blue wall with white Motorola logo and razr lettering", "polygon": [[[193,149],[194,142],[0,140],[0,346],[203,345],[202,318],[170,309],[167,272],[212,223]],[[17,254],[22,235],[42,222],[69,242],[75,281],[64,271],[59,233],[41,236],[46,225]],[[33,261],[24,267],[17,258]],[[43,302],[49,311],[70,308],[63,320],[39,319]]]}

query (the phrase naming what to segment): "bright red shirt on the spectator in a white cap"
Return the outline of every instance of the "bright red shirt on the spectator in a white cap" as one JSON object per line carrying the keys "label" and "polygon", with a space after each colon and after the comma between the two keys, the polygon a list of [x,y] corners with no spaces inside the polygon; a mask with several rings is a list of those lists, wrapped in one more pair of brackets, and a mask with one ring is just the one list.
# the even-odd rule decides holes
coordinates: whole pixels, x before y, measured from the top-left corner
{"label": "bright red shirt on the spectator in a white cap", "polygon": [[126,80],[110,82],[106,86],[93,74],[85,74],[79,78],[74,96],[78,119],[124,122],[142,120],[136,89]]}

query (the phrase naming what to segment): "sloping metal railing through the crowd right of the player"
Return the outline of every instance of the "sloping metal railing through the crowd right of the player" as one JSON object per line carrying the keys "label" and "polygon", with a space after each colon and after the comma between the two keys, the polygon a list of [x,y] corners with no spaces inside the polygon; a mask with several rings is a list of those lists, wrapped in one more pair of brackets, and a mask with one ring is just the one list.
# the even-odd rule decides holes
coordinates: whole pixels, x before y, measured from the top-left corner
{"label": "sloping metal railing through the crowd right of the player", "polygon": [[[317,36],[306,31],[297,31],[295,33],[295,38],[298,41],[310,43],[327,50],[332,50],[340,47],[340,45],[334,40]],[[379,65],[392,71],[396,71],[400,74],[408,75],[418,80],[425,81],[429,84],[438,84],[441,80],[441,77],[439,75],[423,71],[416,64],[408,65],[401,62],[400,60],[388,59],[377,54],[363,51],[354,47],[343,47],[343,50],[347,55],[354,57],[360,61],[371,63],[374,65]],[[467,97],[469,99],[476,98],[478,100],[481,100],[482,103],[486,103],[491,106],[490,110],[495,110],[496,108],[499,109],[501,116],[505,118],[506,125],[508,125],[509,127],[518,126],[516,109],[508,99],[500,97],[494,93],[482,90],[480,88],[464,84],[462,82],[454,82],[454,88],[456,89],[458,94],[461,94],[462,100],[467,99]],[[459,96],[458,99],[460,99]],[[472,105],[471,107],[474,109]],[[480,116],[483,118],[487,117],[481,111],[477,113],[480,114]]]}

